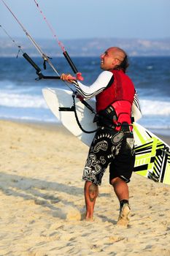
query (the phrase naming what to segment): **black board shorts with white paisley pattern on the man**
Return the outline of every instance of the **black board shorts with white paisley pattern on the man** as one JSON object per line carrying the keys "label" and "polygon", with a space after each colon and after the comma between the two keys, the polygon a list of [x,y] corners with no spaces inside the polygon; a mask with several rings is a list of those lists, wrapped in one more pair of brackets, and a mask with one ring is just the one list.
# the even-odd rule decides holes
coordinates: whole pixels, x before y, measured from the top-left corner
{"label": "black board shorts with white paisley pattern on the man", "polygon": [[129,182],[134,170],[134,135],[102,128],[96,132],[85,163],[82,179],[101,185],[101,178],[109,165],[109,182],[120,177]]}

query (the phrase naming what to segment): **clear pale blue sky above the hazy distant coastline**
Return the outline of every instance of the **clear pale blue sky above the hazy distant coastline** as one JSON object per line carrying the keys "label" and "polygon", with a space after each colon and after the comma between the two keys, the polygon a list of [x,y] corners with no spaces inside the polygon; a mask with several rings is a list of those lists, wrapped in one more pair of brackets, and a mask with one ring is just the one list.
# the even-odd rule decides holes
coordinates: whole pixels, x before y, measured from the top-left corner
{"label": "clear pale blue sky above the hazy distant coastline", "polygon": [[[4,0],[34,38],[53,35],[34,0]],[[36,0],[58,39],[170,37],[170,0]],[[12,37],[23,30],[0,0],[0,25]],[[0,37],[5,37],[0,30]]]}

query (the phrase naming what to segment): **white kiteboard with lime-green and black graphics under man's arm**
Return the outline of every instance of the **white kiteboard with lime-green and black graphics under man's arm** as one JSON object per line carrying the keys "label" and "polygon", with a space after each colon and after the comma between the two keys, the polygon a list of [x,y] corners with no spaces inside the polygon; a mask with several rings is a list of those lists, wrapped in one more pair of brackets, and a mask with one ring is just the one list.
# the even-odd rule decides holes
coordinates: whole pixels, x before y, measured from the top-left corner
{"label": "white kiteboard with lime-green and black graphics under man's arm", "polygon": [[[72,91],[59,88],[47,88],[42,90],[48,107],[61,121],[69,132],[77,137],[82,143],[90,146],[93,133],[82,132],[73,111]],[[93,123],[94,113],[75,98],[77,117],[83,129],[95,131],[96,123]],[[87,101],[95,109],[95,101]],[[149,130],[136,122],[134,126],[136,161],[134,171],[141,176],[150,178],[157,182],[170,184],[170,147]]]}

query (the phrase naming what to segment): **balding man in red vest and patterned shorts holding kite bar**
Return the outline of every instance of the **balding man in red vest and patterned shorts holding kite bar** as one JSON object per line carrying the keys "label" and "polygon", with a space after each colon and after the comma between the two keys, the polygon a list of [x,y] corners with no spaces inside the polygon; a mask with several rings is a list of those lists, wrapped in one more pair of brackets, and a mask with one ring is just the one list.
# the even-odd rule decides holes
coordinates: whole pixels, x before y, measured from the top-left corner
{"label": "balding man in red vest and patterned shorts holding kite bar", "polygon": [[135,161],[131,125],[133,102],[139,108],[134,84],[125,75],[127,67],[125,51],[112,47],[101,54],[101,69],[104,71],[91,86],[72,80],[72,75],[61,75],[61,79],[74,83],[78,94],[85,99],[96,97],[97,114],[94,121],[99,129],[91,143],[82,177],[85,180],[86,219],[93,219],[98,185],[101,185],[101,178],[109,165],[109,183],[120,201],[117,222],[120,225],[128,224],[131,211],[127,183]]}

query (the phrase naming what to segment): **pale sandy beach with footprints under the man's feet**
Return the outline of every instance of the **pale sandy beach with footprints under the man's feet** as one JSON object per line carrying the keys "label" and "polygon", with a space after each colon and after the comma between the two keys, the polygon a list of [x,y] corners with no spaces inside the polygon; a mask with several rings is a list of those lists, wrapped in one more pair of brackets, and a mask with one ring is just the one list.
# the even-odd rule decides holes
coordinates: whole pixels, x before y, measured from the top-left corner
{"label": "pale sandy beach with footprints under the man's feet", "polygon": [[107,171],[87,222],[87,146],[57,124],[0,121],[0,138],[1,256],[170,255],[170,186],[134,173],[131,221],[120,227]]}

